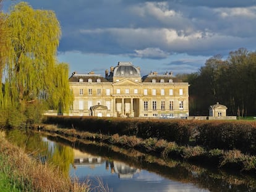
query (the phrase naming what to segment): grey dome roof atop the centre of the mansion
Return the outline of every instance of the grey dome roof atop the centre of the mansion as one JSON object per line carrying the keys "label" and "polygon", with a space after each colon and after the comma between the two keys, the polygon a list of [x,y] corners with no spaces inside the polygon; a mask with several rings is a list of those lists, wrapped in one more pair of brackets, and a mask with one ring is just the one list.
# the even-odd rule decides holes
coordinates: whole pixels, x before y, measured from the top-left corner
{"label": "grey dome roof atop the centre of the mansion", "polygon": [[114,68],[114,77],[141,77],[140,70],[134,67],[131,62],[118,62]]}

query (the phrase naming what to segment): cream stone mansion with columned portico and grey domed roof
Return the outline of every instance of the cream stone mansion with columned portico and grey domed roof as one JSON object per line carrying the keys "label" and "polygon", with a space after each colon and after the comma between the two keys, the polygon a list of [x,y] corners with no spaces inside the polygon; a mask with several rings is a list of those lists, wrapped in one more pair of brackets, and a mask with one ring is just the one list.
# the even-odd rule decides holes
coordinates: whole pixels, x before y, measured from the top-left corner
{"label": "cream stone mansion with columned portico and grey domed roof", "polygon": [[[110,71],[105,71],[105,77],[94,72],[72,73],[69,85],[74,93],[69,115],[189,116],[189,83],[178,82],[172,73],[158,75],[153,72],[141,77],[139,67],[130,62],[119,62],[116,67],[110,67]],[[97,110],[100,112],[95,113]]]}

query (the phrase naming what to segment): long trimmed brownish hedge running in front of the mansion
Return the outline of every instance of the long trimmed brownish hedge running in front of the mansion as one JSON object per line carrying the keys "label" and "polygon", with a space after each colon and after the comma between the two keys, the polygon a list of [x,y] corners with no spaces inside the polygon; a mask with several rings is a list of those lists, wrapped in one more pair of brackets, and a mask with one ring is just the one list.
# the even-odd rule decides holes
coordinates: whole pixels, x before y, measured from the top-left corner
{"label": "long trimmed brownish hedge running in front of the mansion", "polygon": [[207,149],[238,149],[256,154],[256,121],[48,116],[44,123],[105,135],[158,138],[183,145],[193,141]]}

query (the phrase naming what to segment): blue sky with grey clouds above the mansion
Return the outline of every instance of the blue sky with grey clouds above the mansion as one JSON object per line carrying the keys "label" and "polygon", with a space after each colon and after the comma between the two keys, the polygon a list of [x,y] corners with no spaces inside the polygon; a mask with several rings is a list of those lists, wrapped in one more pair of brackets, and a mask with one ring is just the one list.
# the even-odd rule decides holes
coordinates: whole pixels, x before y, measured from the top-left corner
{"label": "blue sky with grey clouds above the mansion", "polygon": [[[3,10],[20,1],[4,0]],[[59,62],[105,75],[119,61],[150,72],[194,73],[207,59],[256,49],[256,0],[29,0],[61,23]]]}

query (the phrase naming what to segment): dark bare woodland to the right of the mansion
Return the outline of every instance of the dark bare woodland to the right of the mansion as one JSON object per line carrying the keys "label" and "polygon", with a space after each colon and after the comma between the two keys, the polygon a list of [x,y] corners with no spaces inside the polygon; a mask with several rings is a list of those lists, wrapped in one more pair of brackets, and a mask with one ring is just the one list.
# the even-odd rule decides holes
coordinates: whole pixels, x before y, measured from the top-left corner
{"label": "dark bare woodland to the right of the mansion", "polygon": [[256,52],[241,48],[226,60],[213,56],[198,72],[177,78],[190,84],[190,115],[208,115],[208,107],[216,102],[228,107],[228,115],[256,115]]}

